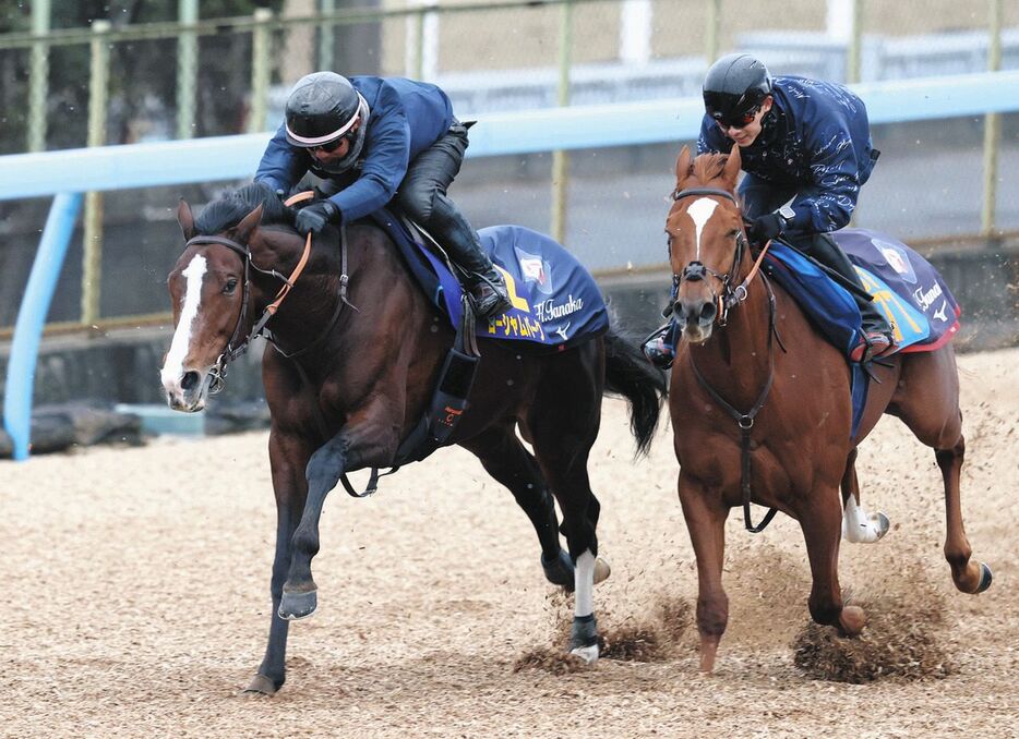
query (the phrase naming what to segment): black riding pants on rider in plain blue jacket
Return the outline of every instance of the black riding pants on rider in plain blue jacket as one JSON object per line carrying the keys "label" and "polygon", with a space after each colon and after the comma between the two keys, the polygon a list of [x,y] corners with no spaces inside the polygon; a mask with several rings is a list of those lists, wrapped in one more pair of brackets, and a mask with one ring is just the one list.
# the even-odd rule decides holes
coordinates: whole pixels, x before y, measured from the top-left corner
{"label": "black riding pants on rider in plain blue jacket", "polygon": [[439,141],[410,162],[396,193],[396,203],[423,226],[460,267],[468,272],[482,274],[492,268],[492,262],[482,250],[478,233],[446,195],[460,171],[467,144],[467,126],[454,121]]}

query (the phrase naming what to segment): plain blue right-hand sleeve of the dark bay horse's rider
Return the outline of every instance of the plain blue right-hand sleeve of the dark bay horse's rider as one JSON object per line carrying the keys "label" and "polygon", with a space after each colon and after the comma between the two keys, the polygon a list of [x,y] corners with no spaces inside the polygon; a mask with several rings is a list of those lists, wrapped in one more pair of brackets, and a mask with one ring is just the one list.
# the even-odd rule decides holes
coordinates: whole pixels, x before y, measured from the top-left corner
{"label": "plain blue right-hand sleeve of the dark bay horse's rider", "polygon": [[367,154],[361,175],[329,199],[345,220],[374,213],[396,194],[410,163],[410,123],[399,94],[383,86],[371,111],[364,141]]}

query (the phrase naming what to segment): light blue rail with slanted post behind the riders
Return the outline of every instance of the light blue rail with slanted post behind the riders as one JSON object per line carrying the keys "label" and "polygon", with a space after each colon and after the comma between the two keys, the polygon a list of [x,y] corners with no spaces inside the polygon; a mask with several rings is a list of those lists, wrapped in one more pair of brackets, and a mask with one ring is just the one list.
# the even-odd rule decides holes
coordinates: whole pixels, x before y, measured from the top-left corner
{"label": "light blue rail with slanted post behind the riders", "polygon": [[[854,85],[873,124],[1019,110],[1019,71]],[[468,156],[695,140],[699,98],[549,108],[484,116]],[[467,118],[467,117],[465,117]],[[268,133],[0,157],[0,201],[56,195],[17,314],[3,424],[14,458],[28,457],[35,364],[81,193],[249,178]]]}

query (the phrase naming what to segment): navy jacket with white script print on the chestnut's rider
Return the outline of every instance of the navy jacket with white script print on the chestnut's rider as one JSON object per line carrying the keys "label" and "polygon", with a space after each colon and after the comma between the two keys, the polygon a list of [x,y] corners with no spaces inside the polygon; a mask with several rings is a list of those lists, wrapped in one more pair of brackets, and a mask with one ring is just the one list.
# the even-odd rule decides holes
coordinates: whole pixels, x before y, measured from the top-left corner
{"label": "navy jacket with white script print on the chestnut's rider", "polygon": [[[743,169],[777,185],[796,185],[792,227],[826,232],[849,222],[860,186],[874,169],[863,100],[846,87],[807,77],[775,77],[760,135],[740,149]],[[697,150],[728,153],[733,141],[705,116]],[[873,155],[876,158],[876,153]]]}

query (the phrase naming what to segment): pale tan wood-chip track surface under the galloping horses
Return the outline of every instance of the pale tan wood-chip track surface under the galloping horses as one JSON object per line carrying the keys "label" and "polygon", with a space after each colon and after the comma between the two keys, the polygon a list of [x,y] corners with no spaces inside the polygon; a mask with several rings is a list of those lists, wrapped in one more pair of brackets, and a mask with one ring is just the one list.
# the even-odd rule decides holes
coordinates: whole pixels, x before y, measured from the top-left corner
{"label": "pale tan wood-chip track surface under the galloping horses", "polygon": [[798,668],[810,581],[799,529],[779,517],[751,536],[735,512],[729,631],[716,673],[699,675],[671,431],[634,463],[624,405],[610,401],[591,477],[614,572],[596,607],[607,634],[658,634],[649,662],[514,670],[560,645],[570,604],[544,583],[512,496],[453,449],[372,499],[331,496],[319,613],[291,627],[284,689],[245,696],[268,627],[266,435],[163,438],[0,464],[0,735],[1017,736],[1017,364],[1019,350],[960,358],[963,511],[974,556],[994,569],[987,593],[951,585],[933,452],[894,419],[861,451],[865,501],[894,529],[843,544],[842,583],[934,650],[919,679],[849,685]]}

